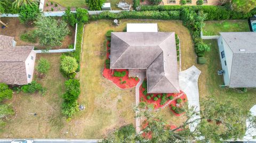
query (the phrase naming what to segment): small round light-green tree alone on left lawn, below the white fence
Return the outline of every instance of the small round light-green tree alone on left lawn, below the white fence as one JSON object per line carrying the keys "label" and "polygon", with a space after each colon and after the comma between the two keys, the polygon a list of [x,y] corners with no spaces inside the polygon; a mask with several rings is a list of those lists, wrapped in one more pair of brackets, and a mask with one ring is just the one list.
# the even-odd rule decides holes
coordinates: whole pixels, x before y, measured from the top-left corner
{"label": "small round light-green tree alone on left lawn, below the white fence", "polygon": [[78,64],[74,57],[65,56],[61,60],[60,68],[67,74],[74,73],[76,71],[76,69],[78,68]]}

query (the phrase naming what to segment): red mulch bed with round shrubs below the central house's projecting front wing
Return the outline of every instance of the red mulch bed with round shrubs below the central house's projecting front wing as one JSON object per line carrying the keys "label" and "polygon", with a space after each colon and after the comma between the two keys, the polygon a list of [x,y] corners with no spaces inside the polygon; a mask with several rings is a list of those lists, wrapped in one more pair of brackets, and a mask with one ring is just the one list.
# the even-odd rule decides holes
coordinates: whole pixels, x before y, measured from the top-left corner
{"label": "red mulch bed with round shrubs below the central house's projecting front wing", "polygon": [[[171,104],[171,103],[176,103],[176,101],[174,100],[174,101],[172,101],[171,103],[168,103],[169,101],[170,101],[170,99],[167,99],[167,101],[165,102],[165,104],[164,105],[160,105],[160,102],[161,102],[161,99],[160,98],[158,98],[158,100],[154,100],[154,97],[157,97],[157,95],[161,95],[161,97],[162,97],[162,95],[163,94],[154,94],[154,96],[153,97],[151,97],[151,99],[147,99],[147,96],[148,95],[150,95],[150,94],[147,94],[147,95],[144,95],[143,94],[143,91],[144,91],[145,89],[142,87],[142,85],[140,86],[140,101],[142,101],[141,99],[143,99],[143,101],[146,101],[147,103],[149,103],[149,104],[154,104],[154,107],[155,107],[155,109],[158,109],[158,108],[161,108],[161,107],[163,107],[163,106],[165,106],[166,104]],[[175,98],[176,96],[179,96],[180,94],[183,94],[183,96],[181,96],[181,98],[187,98],[187,96],[186,96],[186,94],[183,92],[183,91],[181,91],[180,90],[180,92],[179,93],[172,93],[172,94],[167,94],[167,98],[168,97],[170,97],[170,96],[173,96],[173,98]]]}

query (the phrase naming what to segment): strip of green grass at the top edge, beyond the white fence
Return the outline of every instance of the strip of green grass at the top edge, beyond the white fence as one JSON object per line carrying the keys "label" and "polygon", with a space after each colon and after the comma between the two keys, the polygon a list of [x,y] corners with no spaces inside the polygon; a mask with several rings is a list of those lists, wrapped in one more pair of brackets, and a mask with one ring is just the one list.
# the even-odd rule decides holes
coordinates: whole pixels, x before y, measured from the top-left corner
{"label": "strip of green grass at the top edge, beyond the white fence", "polygon": [[85,7],[85,0],[50,0],[50,2],[55,2],[63,7]]}

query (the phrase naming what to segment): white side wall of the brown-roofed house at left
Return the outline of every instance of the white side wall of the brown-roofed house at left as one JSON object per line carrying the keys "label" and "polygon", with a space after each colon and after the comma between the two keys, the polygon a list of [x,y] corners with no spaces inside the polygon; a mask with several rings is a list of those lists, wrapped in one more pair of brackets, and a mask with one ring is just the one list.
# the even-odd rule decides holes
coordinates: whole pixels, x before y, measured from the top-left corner
{"label": "white side wall of the brown-roofed house at left", "polygon": [[[31,60],[31,56],[33,56],[33,60]],[[33,79],[35,60],[36,60],[36,53],[33,50],[30,52],[29,56],[27,57],[27,59],[25,61],[28,83],[30,83]],[[30,78],[28,78],[28,74],[30,74]]]}

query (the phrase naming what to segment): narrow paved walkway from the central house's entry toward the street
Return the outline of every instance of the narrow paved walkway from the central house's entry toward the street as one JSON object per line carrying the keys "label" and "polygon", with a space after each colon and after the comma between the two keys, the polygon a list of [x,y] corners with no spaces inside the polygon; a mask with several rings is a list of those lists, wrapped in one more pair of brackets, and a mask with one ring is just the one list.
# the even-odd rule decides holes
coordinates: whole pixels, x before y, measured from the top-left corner
{"label": "narrow paved walkway from the central house's entry toward the street", "polygon": [[[137,86],[135,88],[135,105],[136,105],[136,107],[140,104],[140,85],[146,78],[146,72],[143,72],[143,71],[138,72],[137,77],[140,79],[140,82],[137,84]],[[139,113],[139,111],[135,112],[136,116],[138,113]],[[136,124],[136,132],[139,133],[140,132],[140,117],[136,117],[135,124]]]}

